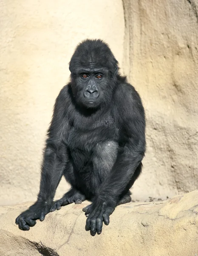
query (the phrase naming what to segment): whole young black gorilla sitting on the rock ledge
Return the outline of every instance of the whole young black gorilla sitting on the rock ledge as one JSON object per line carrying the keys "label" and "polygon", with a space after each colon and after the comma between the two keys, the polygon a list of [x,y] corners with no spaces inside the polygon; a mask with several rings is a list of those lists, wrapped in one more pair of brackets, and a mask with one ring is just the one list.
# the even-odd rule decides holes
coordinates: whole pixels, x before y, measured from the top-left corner
{"label": "whole young black gorilla sitting on the rock ledge", "polygon": [[[79,44],[69,69],[71,81],[57,97],[48,129],[37,201],[16,224],[29,230],[48,212],[88,199],[93,203],[83,209],[85,229],[94,236],[116,205],[131,201],[145,152],[144,108],[101,40]],[[62,175],[71,189],[53,203]]]}

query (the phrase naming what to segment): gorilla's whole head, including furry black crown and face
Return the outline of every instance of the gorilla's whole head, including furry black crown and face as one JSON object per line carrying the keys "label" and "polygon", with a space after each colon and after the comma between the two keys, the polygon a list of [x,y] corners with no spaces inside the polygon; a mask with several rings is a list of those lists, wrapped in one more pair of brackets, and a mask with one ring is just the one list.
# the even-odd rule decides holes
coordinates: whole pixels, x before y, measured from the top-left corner
{"label": "gorilla's whole head, including furry black crown and face", "polygon": [[71,89],[77,104],[98,108],[111,101],[118,61],[102,40],[85,40],[71,58]]}

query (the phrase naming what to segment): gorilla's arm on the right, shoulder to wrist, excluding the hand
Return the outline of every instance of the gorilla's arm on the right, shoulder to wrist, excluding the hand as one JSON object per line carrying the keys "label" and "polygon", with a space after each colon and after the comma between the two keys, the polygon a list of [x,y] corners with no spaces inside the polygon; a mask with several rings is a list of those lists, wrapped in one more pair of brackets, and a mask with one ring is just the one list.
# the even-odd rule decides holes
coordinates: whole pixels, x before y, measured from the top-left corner
{"label": "gorilla's arm on the right, shoulder to wrist, excluding the hand", "polygon": [[110,175],[102,184],[99,195],[101,199],[109,195],[110,200],[118,200],[144,157],[146,148],[144,108],[139,94],[131,85],[130,87],[130,91],[126,90],[122,93],[125,99],[124,104],[119,108],[121,124],[119,140],[120,145],[123,146],[120,147]]}

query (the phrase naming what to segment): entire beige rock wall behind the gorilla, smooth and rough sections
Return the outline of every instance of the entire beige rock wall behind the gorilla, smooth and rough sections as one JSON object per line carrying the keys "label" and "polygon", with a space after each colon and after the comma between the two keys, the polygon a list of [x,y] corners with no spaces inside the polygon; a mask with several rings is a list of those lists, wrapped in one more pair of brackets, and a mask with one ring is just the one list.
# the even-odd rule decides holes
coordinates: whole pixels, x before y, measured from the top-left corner
{"label": "entire beige rock wall behind the gorilla, smooth and rough sections", "polygon": [[[0,205],[34,201],[76,44],[102,38],[139,91],[147,155],[134,200],[198,187],[198,0],[0,0]],[[60,197],[68,189],[62,180]]]}

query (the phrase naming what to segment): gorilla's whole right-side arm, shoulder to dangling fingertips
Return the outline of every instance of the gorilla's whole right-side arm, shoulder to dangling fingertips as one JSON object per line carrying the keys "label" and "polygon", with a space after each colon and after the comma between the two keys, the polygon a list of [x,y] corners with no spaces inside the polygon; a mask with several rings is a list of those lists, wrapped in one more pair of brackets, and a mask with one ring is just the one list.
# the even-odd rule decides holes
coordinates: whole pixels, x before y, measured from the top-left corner
{"label": "gorilla's whole right-side arm, shoulder to dangling fingertips", "polygon": [[[102,184],[99,195],[94,199],[93,204],[84,208],[85,215],[88,216],[85,229],[91,230],[92,235],[102,232],[103,220],[106,225],[109,224],[109,215],[115,209],[119,196],[134,178],[133,175],[144,157],[144,108],[138,93],[132,86],[130,87],[129,91],[126,88],[124,93],[120,93],[125,98],[117,102],[121,106],[119,107],[120,143],[123,146],[119,150],[110,174]],[[121,102],[124,102],[124,105]]]}

